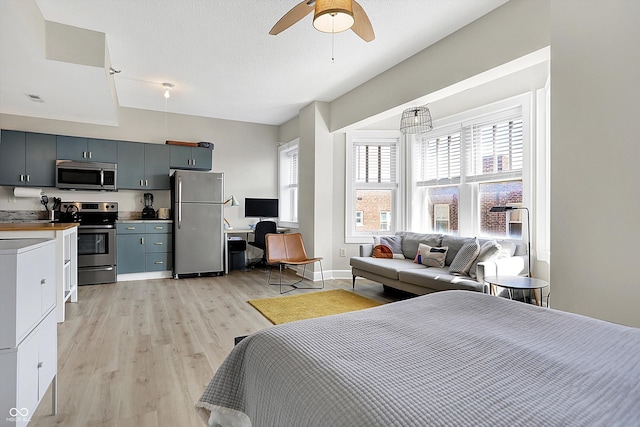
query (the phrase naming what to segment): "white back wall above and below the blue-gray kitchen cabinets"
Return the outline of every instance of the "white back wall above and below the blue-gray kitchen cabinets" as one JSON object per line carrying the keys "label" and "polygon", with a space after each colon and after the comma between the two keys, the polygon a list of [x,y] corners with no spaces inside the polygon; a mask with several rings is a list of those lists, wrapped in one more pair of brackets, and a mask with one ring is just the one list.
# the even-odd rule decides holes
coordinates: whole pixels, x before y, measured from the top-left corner
{"label": "white back wall above and below the blue-gray kitchen cabinets", "polygon": [[[0,115],[2,129],[117,139],[164,144],[166,140],[208,141],[215,144],[213,171],[225,173],[225,193],[233,194],[242,204],[245,197],[277,197],[276,126],[230,120],[210,119],[180,114],[120,108],[119,126],[98,126],[84,123]],[[166,131],[165,131],[166,129]],[[0,187],[0,210],[44,210],[37,200],[15,199],[13,187]],[[120,210],[136,211],[144,206],[144,192],[61,192],[46,190],[47,196],[63,200],[109,200],[119,203]],[[152,191],[155,207],[169,207],[169,191]],[[244,218],[243,206],[225,207],[225,216],[238,228],[255,222]]]}

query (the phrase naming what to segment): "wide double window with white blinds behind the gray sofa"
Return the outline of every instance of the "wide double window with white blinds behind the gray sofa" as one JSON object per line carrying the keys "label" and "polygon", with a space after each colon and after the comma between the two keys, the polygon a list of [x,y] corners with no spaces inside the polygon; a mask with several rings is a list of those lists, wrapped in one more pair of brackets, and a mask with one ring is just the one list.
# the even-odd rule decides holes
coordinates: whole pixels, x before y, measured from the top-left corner
{"label": "wide double window with white blinds behind the gray sofa", "polygon": [[523,108],[497,113],[484,109],[484,115],[452,120],[416,136],[411,156],[413,229],[521,238],[516,215],[489,209],[523,203]]}

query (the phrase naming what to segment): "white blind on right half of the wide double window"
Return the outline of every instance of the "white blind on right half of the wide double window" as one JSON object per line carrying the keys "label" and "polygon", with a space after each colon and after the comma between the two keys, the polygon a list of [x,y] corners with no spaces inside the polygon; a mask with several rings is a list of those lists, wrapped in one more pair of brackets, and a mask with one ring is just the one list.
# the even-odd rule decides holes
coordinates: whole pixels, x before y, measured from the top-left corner
{"label": "white blind on right half of the wide double window", "polygon": [[522,115],[503,117],[466,128],[469,135],[467,182],[522,177]]}

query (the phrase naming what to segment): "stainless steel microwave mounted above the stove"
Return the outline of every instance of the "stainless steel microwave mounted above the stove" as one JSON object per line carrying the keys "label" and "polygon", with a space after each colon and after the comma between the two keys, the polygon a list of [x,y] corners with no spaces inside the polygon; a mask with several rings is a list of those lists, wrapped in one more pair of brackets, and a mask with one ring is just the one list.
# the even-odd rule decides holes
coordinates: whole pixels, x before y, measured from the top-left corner
{"label": "stainless steel microwave mounted above the stove", "polygon": [[64,190],[107,190],[117,187],[115,163],[56,160],[56,187]]}

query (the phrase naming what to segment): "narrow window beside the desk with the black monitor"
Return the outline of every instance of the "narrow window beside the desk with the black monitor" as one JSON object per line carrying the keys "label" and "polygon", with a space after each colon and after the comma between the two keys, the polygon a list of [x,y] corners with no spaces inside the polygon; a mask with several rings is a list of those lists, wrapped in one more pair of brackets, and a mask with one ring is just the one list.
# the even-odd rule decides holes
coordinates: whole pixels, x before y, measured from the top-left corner
{"label": "narrow window beside the desk with the black monitor", "polygon": [[296,227],[298,223],[298,154],[297,139],[278,147],[279,220],[289,227]]}

